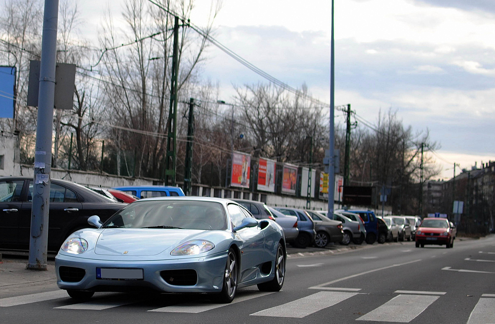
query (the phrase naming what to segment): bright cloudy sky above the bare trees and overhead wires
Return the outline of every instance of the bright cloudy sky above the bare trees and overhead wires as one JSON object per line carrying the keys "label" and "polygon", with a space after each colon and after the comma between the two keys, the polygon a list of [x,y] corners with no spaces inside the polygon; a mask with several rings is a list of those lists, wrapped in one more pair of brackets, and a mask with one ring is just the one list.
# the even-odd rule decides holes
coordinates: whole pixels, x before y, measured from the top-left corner
{"label": "bright cloudy sky above the bare trees and overhead wires", "polygon": [[[95,33],[105,8],[118,16],[122,2],[80,1],[84,30]],[[204,26],[209,7],[197,0],[191,21]],[[215,38],[328,103],[330,15],[330,0],[224,0]],[[335,0],[335,39],[336,105],[371,123],[392,108],[414,131],[429,129],[442,177],[454,162],[495,160],[494,0]],[[203,75],[227,102],[232,84],[265,82],[213,47],[207,56]]]}

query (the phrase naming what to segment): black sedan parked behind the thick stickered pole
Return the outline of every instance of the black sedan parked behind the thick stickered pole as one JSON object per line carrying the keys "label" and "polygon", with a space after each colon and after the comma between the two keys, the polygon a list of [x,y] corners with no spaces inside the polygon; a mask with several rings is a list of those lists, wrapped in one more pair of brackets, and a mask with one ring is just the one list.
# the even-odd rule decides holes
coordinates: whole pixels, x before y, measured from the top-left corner
{"label": "black sedan parked behind the thick stickered pole", "polygon": [[[0,177],[0,249],[29,250],[33,178]],[[81,185],[51,179],[48,250],[58,251],[72,232],[88,227],[88,217],[106,220],[126,204]]]}

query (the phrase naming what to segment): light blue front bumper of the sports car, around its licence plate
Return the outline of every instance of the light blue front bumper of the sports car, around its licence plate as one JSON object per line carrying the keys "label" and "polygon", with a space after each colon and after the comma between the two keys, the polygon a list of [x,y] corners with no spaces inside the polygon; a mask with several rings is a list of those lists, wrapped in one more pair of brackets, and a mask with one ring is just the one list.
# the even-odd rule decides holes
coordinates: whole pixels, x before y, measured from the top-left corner
{"label": "light blue front bumper of the sports car, around its licence plate", "polygon": [[[227,252],[201,258],[177,258],[174,260],[158,261],[108,261],[83,259],[58,254],[55,259],[55,272],[57,276],[57,286],[60,289],[90,291],[133,291],[137,289],[151,289],[169,293],[220,292],[222,290],[226,262]],[[60,267],[83,269],[85,274],[82,279],[77,282],[64,281],[60,277]],[[143,269],[143,279],[97,279],[97,268]],[[197,273],[196,284],[171,284],[160,275],[160,272],[164,270],[195,270]],[[181,271],[179,271],[179,273],[180,272]]]}

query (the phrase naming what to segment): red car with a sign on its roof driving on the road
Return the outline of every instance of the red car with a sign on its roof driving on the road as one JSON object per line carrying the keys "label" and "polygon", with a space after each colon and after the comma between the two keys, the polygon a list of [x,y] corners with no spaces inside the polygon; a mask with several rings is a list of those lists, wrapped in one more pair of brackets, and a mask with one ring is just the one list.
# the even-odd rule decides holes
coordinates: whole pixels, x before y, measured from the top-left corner
{"label": "red car with a sign on its roof driving on the road", "polygon": [[416,247],[445,244],[449,249],[454,246],[456,232],[455,226],[446,218],[424,218],[416,230]]}

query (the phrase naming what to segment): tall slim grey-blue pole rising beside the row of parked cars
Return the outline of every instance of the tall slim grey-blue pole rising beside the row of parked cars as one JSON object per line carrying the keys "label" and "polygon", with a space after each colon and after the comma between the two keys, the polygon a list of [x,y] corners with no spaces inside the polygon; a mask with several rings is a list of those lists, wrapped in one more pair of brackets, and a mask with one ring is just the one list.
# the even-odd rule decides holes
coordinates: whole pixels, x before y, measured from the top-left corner
{"label": "tall slim grey-blue pole rising beside the row of parked cars", "polygon": [[328,217],[334,218],[335,195],[335,50],[334,50],[334,0],[332,0],[332,29],[330,38],[330,132],[329,150],[330,162],[328,165]]}

